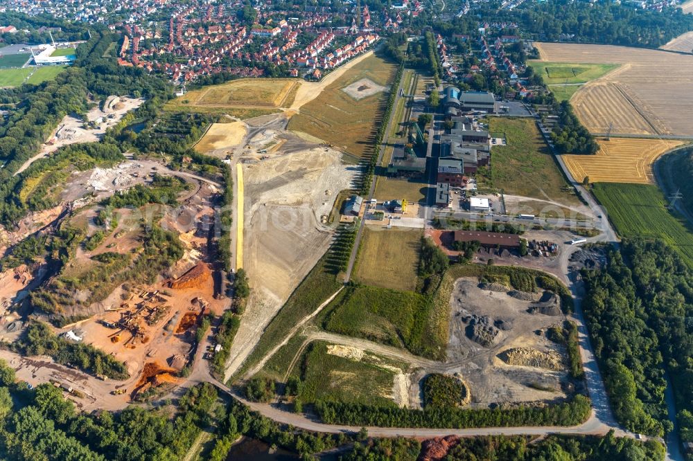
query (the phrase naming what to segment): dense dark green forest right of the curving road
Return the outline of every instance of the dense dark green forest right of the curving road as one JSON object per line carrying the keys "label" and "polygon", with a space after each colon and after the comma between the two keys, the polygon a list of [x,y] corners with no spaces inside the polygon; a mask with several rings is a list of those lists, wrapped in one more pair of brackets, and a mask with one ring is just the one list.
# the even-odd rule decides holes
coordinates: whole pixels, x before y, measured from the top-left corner
{"label": "dense dark green forest right of the curving road", "polygon": [[631,431],[672,430],[668,376],[681,437],[693,441],[692,275],[672,248],[644,240],[624,242],[622,253],[612,249],[606,269],[584,271],[595,353],[614,413]]}

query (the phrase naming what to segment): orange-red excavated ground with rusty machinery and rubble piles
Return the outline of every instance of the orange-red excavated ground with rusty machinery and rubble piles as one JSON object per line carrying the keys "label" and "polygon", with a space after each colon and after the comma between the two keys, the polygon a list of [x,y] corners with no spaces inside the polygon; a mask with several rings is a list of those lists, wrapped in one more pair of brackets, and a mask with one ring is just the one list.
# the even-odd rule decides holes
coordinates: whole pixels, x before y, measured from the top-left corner
{"label": "orange-red excavated ground with rusty machinery and rubble piles", "polygon": [[117,390],[130,399],[143,399],[182,383],[182,370],[193,359],[195,332],[206,314],[219,315],[225,300],[215,299],[212,273],[198,263],[179,278],[166,280],[130,295],[78,327],[82,341],[123,361],[131,379]]}

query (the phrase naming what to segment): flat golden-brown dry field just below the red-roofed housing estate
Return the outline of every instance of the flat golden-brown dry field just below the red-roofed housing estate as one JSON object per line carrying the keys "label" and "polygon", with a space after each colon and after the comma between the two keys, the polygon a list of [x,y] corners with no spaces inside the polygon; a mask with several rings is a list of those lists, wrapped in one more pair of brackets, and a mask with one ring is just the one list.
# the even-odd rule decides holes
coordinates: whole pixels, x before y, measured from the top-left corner
{"label": "flat golden-brown dry field just below the red-roofed housing estate", "polygon": [[299,84],[299,80],[288,78],[231,80],[188,91],[172,104],[193,107],[288,107],[293,102]]}

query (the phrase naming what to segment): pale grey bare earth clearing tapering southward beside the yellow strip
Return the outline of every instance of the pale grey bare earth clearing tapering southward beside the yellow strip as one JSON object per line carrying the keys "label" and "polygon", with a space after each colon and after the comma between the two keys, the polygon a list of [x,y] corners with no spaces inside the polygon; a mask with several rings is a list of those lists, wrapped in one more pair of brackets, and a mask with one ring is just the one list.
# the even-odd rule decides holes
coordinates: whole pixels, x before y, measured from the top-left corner
{"label": "pale grey bare earth clearing tapering southward beside the yellow strip", "polygon": [[356,169],[342,165],[339,152],[312,147],[291,154],[280,149],[277,156],[244,167],[243,266],[253,291],[231,347],[227,375],[243,363],[331,243],[333,230],[321,218],[329,215],[337,193],[352,186]]}

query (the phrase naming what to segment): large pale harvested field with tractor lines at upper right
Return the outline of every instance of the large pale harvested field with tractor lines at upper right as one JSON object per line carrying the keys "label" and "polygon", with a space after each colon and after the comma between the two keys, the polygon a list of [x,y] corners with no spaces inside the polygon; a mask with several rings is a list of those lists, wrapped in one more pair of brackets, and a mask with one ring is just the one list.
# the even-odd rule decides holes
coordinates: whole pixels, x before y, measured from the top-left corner
{"label": "large pale harvested field with tractor lines at upper right", "polygon": [[585,84],[572,97],[593,133],[613,123],[616,134],[693,136],[693,59],[626,46],[535,43],[542,61],[624,64]]}

